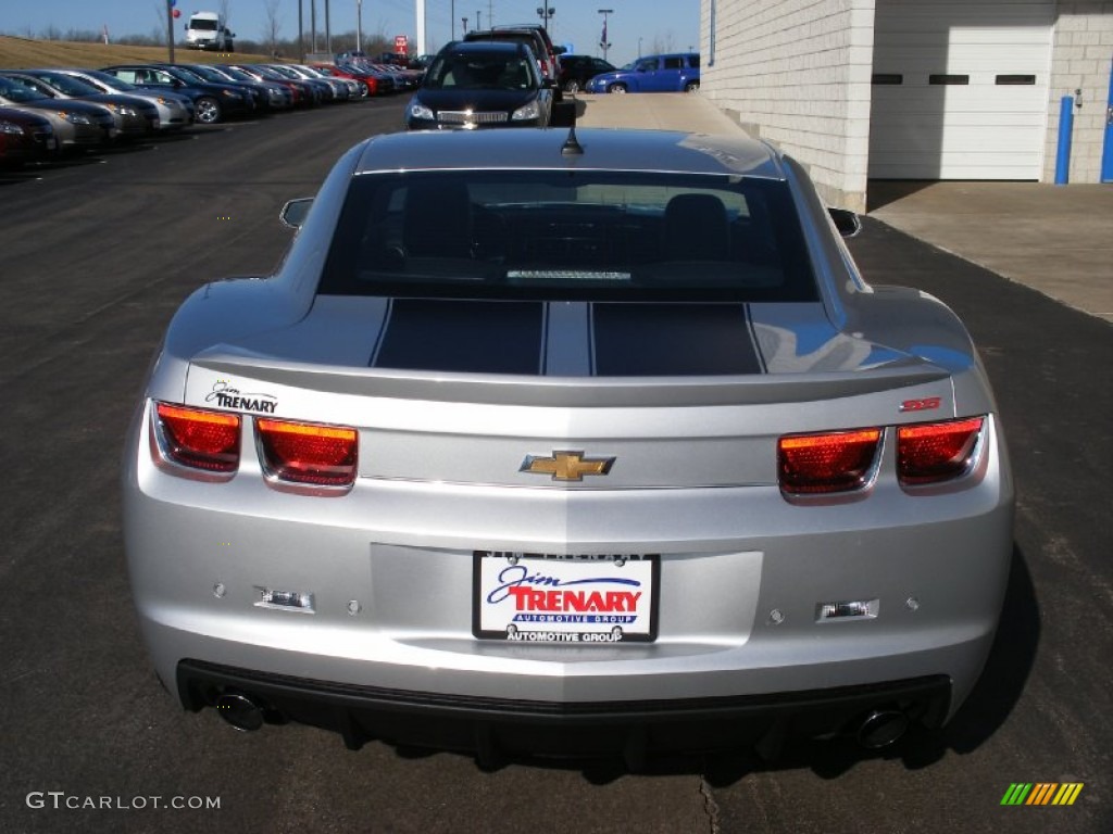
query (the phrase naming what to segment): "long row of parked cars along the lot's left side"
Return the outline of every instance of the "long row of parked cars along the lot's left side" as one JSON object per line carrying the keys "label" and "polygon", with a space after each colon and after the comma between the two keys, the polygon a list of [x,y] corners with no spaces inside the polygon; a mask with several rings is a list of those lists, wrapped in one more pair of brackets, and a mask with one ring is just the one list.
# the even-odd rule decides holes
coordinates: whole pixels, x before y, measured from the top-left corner
{"label": "long row of parked cars along the lot's left side", "polygon": [[421,71],[335,64],[127,63],[0,71],[0,165],[299,107],[404,92]]}

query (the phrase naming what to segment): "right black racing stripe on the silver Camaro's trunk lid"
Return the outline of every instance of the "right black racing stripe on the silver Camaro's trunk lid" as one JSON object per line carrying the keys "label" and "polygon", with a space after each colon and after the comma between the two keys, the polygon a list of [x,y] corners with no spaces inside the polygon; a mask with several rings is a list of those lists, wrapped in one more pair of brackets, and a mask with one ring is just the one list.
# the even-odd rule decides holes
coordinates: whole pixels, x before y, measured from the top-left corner
{"label": "right black racing stripe on the silver Camaro's trunk lid", "polygon": [[742,304],[594,304],[599,376],[760,374]]}

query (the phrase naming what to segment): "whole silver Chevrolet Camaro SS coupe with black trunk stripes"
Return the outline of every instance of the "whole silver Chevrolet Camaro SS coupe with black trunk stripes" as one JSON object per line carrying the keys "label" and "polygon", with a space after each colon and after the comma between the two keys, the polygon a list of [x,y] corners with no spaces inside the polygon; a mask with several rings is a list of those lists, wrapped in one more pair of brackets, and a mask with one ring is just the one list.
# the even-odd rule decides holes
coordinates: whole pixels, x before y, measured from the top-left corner
{"label": "whole silver Chevrolet Camaro SS coupe with black trunk stripes", "polygon": [[663,131],[377,136],[166,334],[126,448],[158,676],[234,726],[501,754],[940,726],[1013,483],[937,299],[799,163]]}

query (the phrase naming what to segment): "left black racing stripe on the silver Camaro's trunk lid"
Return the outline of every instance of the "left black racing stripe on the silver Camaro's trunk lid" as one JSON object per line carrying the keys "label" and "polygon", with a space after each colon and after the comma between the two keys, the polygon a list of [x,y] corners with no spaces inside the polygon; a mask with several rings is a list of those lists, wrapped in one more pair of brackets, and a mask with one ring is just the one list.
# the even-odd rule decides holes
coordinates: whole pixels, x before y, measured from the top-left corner
{"label": "left black racing stripe on the silver Camaro's trunk lid", "polygon": [[541,301],[396,298],[376,368],[470,374],[540,374]]}

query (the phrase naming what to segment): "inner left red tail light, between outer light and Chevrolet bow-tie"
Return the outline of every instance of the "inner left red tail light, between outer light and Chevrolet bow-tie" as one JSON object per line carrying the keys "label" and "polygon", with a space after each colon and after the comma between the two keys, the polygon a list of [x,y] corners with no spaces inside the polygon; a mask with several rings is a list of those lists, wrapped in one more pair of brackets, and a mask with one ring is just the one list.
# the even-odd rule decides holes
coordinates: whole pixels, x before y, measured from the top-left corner
{"label": "inner left red tail light, between outer light and Chevrolet bow-tie", "polygon": [[354,428],[258,418],[267,474],[279,480],[346,487],[355,483],[358,435]]}

